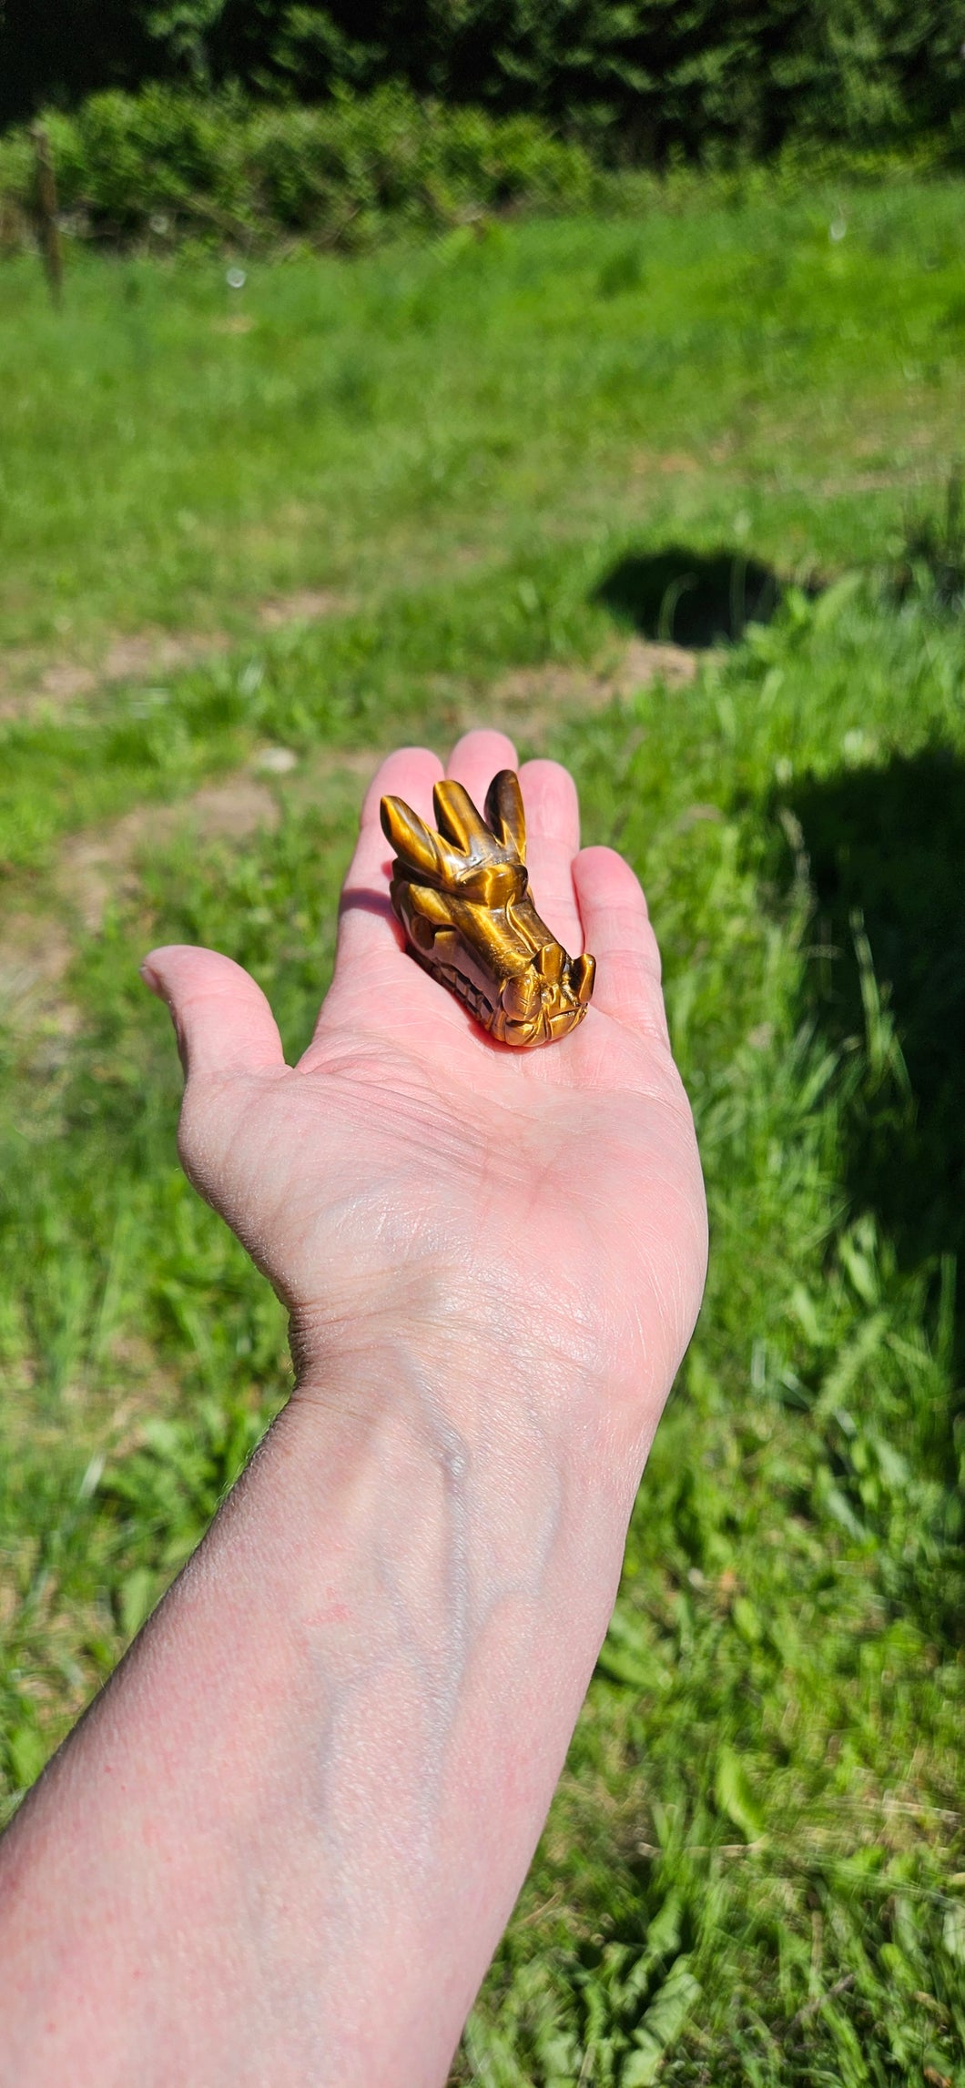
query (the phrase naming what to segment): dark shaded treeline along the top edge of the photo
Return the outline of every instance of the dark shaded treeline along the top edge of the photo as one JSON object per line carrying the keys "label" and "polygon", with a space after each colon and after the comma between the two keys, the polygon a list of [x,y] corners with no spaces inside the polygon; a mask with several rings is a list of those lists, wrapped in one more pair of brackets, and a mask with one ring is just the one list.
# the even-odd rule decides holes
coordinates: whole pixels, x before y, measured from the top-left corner
{"label": "dark shaded treeline along the top edge of the photo", "polygon": [[148,79],[531,111],[614,159],[965,148],[965,0],[6,0],[0,125]]}

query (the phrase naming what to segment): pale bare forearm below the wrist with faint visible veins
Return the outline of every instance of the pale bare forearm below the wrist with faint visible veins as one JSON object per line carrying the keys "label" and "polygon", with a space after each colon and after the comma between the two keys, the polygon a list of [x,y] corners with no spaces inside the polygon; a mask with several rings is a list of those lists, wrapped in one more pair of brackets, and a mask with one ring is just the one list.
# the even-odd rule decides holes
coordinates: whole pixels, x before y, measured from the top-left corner
{"label": "pale bare forearm below the wrist with faint visible veins", "polygon": [[445,2080],[633,1491],[599,1476],[595,1386],[560,1420],[560,1386],[478,1355],[311,1374],[25,1804],[4,2088]]}

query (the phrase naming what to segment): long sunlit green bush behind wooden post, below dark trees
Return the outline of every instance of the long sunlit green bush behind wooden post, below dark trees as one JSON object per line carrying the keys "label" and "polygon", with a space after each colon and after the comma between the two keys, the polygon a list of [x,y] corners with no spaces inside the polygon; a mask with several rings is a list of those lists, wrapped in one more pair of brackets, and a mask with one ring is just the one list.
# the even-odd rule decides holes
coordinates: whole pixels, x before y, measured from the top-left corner
{"label": "long sunlit green bush behind wooden post, below dark trees", "polygon": [[[574,203],[593,180],[583,148],[533,117],[443,109],[399,86],[303,109],[155,84],[94,94],[46,127],[63,213],[109,238],[288,230],[359,242],[389,217],[453,223],[516,203]],[[31,194],[31,142],[13,132],[0,140],[0,196],[29,211]]]}

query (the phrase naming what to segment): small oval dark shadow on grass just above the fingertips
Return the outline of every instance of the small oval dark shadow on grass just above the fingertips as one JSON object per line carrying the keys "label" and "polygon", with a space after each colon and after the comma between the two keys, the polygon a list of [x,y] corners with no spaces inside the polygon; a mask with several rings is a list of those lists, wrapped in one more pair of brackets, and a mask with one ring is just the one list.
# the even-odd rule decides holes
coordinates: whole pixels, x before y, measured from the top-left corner
{"label": "small oval dark shadow on grass just above the fingertips", "polygon": [[700,649],[739,639],[750,622],[771,622],[781,601],[773,566],[742,549],[627,551],[593,591],[593,601],[645,639]]}

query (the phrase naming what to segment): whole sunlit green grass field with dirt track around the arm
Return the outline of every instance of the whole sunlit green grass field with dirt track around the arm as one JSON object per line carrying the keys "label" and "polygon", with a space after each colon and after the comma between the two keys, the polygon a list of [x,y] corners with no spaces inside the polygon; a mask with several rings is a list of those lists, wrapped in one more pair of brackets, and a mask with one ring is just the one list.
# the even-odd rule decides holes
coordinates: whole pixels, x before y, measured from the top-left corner
{"label": "whole sunlit green grass field with dirt track around the arm", "polygon": [[965,2088],[963,200],[0,276],[6,1808],[288,1382],[138,956],[299,1050],[361,775],[487,718],[664,946],[708,1299],[453,2084]]}

